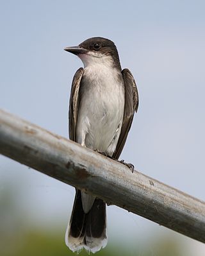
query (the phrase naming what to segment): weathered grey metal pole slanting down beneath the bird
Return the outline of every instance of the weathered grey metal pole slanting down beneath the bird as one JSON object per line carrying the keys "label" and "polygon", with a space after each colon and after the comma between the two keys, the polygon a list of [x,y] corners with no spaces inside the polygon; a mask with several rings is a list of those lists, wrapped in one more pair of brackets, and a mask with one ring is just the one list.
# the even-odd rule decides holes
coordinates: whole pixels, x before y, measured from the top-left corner
{"label": "weathered grey metal pole slanting down beneath the bird", "polygon": [[0,110],[0,153],[205,243],[205,203]]}

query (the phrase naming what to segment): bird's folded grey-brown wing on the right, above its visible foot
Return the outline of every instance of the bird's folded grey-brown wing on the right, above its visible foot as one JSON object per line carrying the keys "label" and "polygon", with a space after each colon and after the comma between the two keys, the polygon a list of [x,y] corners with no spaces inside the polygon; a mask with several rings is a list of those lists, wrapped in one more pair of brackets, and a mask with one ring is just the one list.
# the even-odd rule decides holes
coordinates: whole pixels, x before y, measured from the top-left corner
{"label": "bird's folded grey-brown wing on the right, above its visible foot", "polygon": [[139,102],[135,79],[129,69],[122,70],[122,77],[124,80],[125,105],[120,137],[115,152],[113,153],[113,157],[116,159],[120,157],[122,149],[124,148],[129,129],[133,123],[133,116],[138,109]]}

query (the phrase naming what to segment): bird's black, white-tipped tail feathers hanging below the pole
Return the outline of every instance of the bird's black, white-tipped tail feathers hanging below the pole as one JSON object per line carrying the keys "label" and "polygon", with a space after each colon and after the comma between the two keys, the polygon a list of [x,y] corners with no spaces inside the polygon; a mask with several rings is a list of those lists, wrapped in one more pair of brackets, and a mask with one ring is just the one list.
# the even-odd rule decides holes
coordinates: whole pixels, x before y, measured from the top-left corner
{"label": "bird's black, white-tipped tail feathers hanging below the pole", "polygon": [[85,248],[95,253],[106,246],[106,204],[104,201],[95,198],[92,208],[85,214],[81,191],[76,190],[72,215],[65,234],[65,243],[72,252],[79,252]]}

